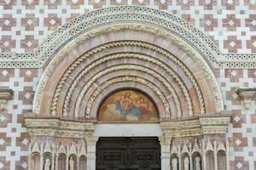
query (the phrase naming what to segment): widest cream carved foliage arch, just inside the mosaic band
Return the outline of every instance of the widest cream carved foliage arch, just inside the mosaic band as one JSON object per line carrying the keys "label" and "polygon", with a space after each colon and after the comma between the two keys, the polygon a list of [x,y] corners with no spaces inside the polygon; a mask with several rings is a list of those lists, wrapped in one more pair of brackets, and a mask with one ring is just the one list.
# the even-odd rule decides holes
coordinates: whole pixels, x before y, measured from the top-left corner
{"label": "widest cream carved foliage arch, just inside the mosaic band", "polygon": [[[119,26],[118,25],[118,26],[110,27],[109,30],[110,31],[119,31],[119,30],[122,30],[123,28],[125,28],[125,29],[127,29],[127,28],[131,29],[132,28],[136,31],[138,29],[140,31],[148,31],[149,33],[154,33],[156,31],[156,32],[158,32],[157,35],[162,35],[162,36],[168,38],[168,40],[177,43],[178,46],[180,48],[182,48],[187,54],[189,54],[191,59],[195,60],[195,63],[197,63],[197,65],[204,71],[204,74],[207,77],[207,81],[210,82],[210,84],[212,86],[212,92],[214,94],[215,105],[216,105],[216,108],[218,109],[217,111],[223,111],[223,109],[224,109],[223,99],[221,97],[220,90],[218,88],[218,83],[215,80],[215,77],[212,73],[211,68],[209,67],[209,65],[207,65],[207,62],[204,59],[202,59],[200,54],[197,54],[197,52],[195,50],[193,50],[192,48],[189,48],[189,47],[186,47],[185,45],[183,45],[182,44],[183,42],[180,42],[175,37],[172,37],[172,35],[166,34],[166,31],[161,32],[157,28],[152,28],[152,27],[149,27],[149,26],[135,26],[135,25],[133,25],[133,26],[131,26],[131,25]],[[33,101],[33,111],[35,113],[38,113],[38,111],[39,111],[39,107],[40,107],[41,102],[42,102],[41,99],[42,99],[42,95],[43,95],[43,92],[44,92],[45,84],[48,82],[49,76],[51,75],[52,71],[54,71],[55,65],[58,65],[58,63],[61,61],[61,59],[66,54],[71,52],[73,50],[73,48],[76,48],[80,43],[86,41],[88,39],[88,35],[95,36],[97,33],[99,33],[99,35],[101,35],[102,31],[106,31],[106,30],[108,31],[108,29],[102,28],[102,30],[99,29],[98,31],[93,31],[92,33],[89,32],[89,33],[86,33],[86,35],[81,35],[80,37],[78,37],[74,41],[69,42],[69,44],[67,44],[67,47],[62,48],[61,51],[58,54],[55,54],[55,58],[51,59],[49,65],[45,69],[44,74],[41,77],[41,80],[38,84],[38,89],[36,91],[35,98],[34,98],[34,101]],[[109,42],[108,46],[110,46],[112,43],[115,43],[115,42]],[[122,42],[118,42],[118,43],[122,43]],[[144,43],[146,43],[146,42],[136,42],[135,44],[137,46],[141,46]],[[149,46],[149,44],[146,44],[146,46]],[[154,45],[150,44],[150,46],[154,46]],[[103,48],[103,47],[99,46],[98,48]],[[104,47],[104,48],[106,48],[106,47]],[[153,47],[153,48],[155,49],[156,46]],[[95,49],[92,49],[91,51],[90,50],[87,51],[86,53],[96,54],[97,51],[98,50],[96,50],[96,48],[95,48]],[[165,55],[169,53],[164,49],[161,49],[160,51],[162,51],[161,53],[165,54]]]}

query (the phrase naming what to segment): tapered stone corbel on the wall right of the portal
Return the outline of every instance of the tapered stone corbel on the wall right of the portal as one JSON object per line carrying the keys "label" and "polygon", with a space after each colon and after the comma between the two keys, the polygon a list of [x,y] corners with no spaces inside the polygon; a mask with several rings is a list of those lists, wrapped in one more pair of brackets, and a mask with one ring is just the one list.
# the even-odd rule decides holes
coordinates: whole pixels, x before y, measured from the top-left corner
{"label": "tapered stone corbel on the wall right of the portal", "polygon": [[238,88],[236,94],[241,98],[241,103],[246,110],[249,110],[252,105],[253,97],[256,94],[256,88]]}

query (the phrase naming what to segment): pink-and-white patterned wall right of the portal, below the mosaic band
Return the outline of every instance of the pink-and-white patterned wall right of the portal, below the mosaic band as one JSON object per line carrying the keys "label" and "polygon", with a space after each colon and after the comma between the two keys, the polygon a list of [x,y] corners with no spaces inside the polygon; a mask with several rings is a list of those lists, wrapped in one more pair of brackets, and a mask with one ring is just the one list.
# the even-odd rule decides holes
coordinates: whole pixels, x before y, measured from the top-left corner
{"label": "pink-and-white patterned wall right of the portal, below the mosaic band", "polygon": [[237,88],[256,87],[256,69],[222,69],[218,82],[226,110],[232,111],[228,139],[230,169],[256,169],[256,102],[245,110],[236,94]]}

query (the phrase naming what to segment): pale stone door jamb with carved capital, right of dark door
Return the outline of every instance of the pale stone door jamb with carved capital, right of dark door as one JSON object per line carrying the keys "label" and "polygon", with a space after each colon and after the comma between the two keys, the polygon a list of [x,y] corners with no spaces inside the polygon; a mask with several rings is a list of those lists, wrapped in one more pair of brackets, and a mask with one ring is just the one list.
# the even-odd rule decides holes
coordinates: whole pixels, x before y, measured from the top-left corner
{"label": "pale stone door jamb with carved capital, right of dark door", "polygon": [[161,146],[161,169],[162,170],[170,170],[170,159],[171,159],[171,154],[170,154],[170,147],[171,147],[171,142],[172,142],[172,136],[160,136],[160,146]]}

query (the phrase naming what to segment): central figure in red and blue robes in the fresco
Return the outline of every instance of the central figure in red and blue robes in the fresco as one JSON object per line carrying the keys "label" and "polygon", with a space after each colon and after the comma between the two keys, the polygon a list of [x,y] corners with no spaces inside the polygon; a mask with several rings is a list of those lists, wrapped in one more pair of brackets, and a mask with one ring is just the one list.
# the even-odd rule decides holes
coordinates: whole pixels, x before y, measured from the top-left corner
{"label": "central figure in red and blue robes in the fresco", "polygon": [[116,109],[123,115],[130,114],[134,116],[141,116],[141,111],[133,104],[130,93],[122,95],[121,98],[116,101],[115,105]]}

